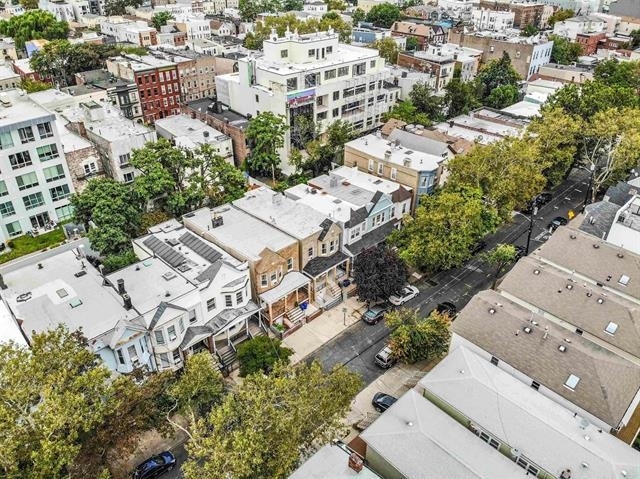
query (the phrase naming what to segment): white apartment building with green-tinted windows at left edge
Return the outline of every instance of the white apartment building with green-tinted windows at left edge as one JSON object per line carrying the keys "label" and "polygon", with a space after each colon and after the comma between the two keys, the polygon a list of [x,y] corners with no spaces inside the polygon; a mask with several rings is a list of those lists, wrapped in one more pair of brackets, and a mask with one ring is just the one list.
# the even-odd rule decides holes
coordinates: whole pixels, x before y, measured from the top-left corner
{"label": "white apartment building with green-tinted windows at left edge", "polygon": [[55,115],[20,90],[0,93],[0,239],[71,218],[74,193]]}

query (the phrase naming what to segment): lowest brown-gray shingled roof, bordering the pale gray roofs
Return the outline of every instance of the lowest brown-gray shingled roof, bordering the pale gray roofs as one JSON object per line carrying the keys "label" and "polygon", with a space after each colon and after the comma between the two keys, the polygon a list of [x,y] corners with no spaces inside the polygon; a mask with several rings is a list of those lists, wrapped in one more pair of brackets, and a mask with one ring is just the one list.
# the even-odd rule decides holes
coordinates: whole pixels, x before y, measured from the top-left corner
{"label": "lowest brown-gray shingled roof, bordering the pale gray roofs", "polygon": [[[490,308],[495,311],[493,314]],[[533,325],[531,320],[538,324]],[[527,334],[525,327],[531,333]],[[640,366],[533,314],[495,291],[474,296],[452,328],[456,334],[614,427],[640,388]],[[546,339],[545,328],[548,328]],[[566,348],[565,352],[558,350],[560,345]],[[574,390],[564,385],[570,374],[580,378]]]}

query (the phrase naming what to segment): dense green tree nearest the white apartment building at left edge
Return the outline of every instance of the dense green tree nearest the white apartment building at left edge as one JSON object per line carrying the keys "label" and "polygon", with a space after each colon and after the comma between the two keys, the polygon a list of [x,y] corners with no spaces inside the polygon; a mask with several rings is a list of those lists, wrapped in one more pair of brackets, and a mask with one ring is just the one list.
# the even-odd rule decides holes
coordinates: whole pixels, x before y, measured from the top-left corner
{"label": "dense green tree nearest the white apartment building at left edge", "polygon": [[131,248],[143,211],[143,202],[132,188],[110,178],[96,178],[82,193],[71,196],[70,202],[76,222],[95,224],[87,233],[93,249],[109,256]]}

